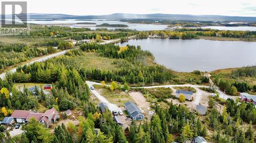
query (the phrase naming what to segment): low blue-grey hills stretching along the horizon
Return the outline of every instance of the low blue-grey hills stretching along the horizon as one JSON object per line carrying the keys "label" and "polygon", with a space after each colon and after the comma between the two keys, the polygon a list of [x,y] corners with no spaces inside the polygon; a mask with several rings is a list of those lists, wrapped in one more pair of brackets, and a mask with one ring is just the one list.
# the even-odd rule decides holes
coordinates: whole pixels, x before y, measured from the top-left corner
{"label": "low blue-grey hills stretching along the horizon", "polygon": [[[188,14],[127,14],[114,13],[110,15],[67,15],[67,14],[28,14],[30,19],[164,19],[164,20],[207,20],[207,21],[256,21],[256,17],[221,16],[221,15],[188,15]],[[11,15],[7,15],[11,18]]]}

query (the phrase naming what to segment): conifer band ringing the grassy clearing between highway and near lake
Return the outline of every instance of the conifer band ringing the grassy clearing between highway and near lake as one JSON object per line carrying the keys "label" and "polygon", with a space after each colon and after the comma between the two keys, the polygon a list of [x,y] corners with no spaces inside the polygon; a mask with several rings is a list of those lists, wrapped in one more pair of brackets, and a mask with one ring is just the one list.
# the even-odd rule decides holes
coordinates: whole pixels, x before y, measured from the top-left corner
{"label": "conifer band ringing the grassy clearing between highway and near lake", "polygon": [[[111,81],[127,83],[153,83],[153,82],[166,82],[174,77],[172,70],[165,69],[160,65],[145,66],[142,62],[147,56],[152,56],[148,51],[143,51],[140,47],[127,45],[127,50],[120,50],[119,46],[113,44],[100,45],[100,44],[82,44],[81,50],[95,51],[100,55],[107,58],[123,59],[113,63],[118,66],[116,70],[99,70],[88,69],[79,67],[77,71],[83,80],[98,80],[98,81]],[[63,69],[73,70],[75,63],[74,59],[82,56],[80,50],[71,50],[66,53],[67,56],[50,59],[46,62],[33,63],[17,68],[17,72],[8,74],[7,79],[16,82],[56,82],[61,80]],[[73,58],[70,58],[72,56]],[[72,62],[73,61],[73,62]],[[67,72],[65,71],[67,74]],[[67,82],[70,80],[61,80]],[[58,82],[60,83],[60,81]]]}

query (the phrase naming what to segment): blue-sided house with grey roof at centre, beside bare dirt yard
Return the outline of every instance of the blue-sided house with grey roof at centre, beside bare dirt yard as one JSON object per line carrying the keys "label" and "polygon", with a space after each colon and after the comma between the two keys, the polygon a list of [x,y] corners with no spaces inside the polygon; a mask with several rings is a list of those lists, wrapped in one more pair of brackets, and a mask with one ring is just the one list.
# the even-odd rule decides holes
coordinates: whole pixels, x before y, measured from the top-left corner
{"label": "blue-sided house with grey roof at centre, beside bare dirt yard", "polygon": [[129,101],[124,103],[124,107],[133,120],[142,120],[144,118],[141,109],[133,102]]}

